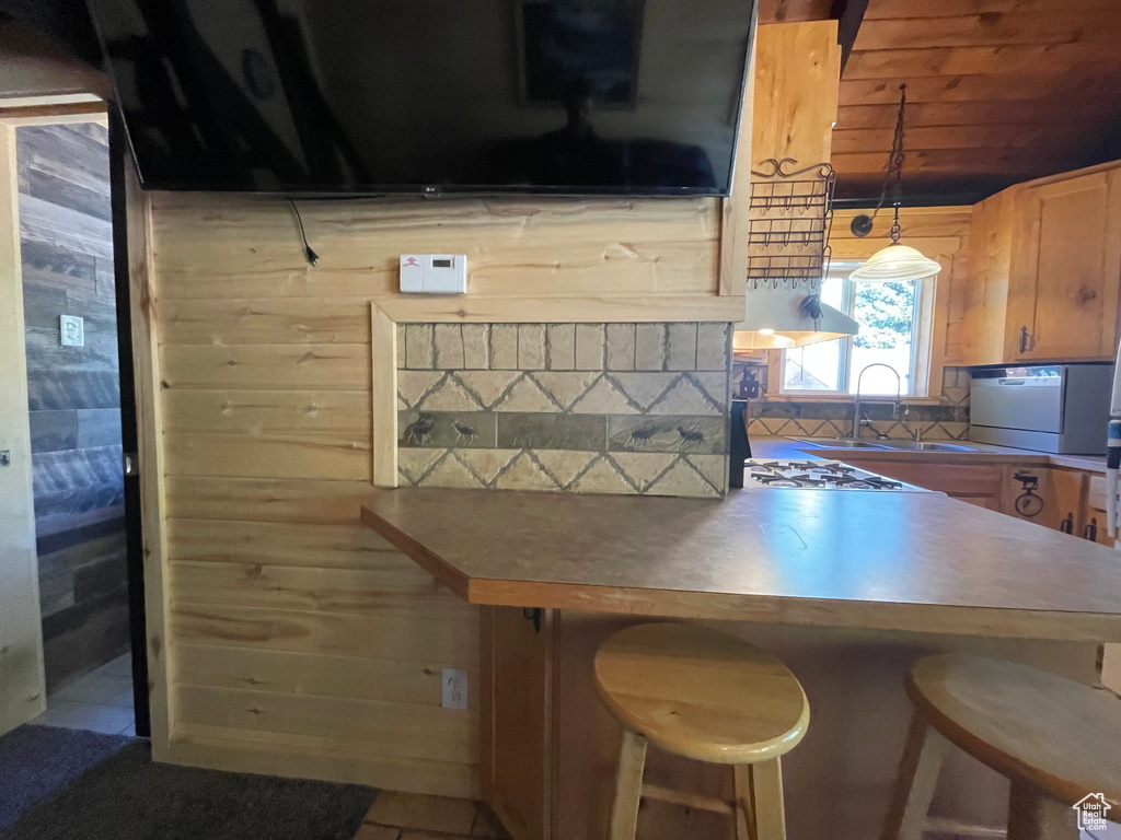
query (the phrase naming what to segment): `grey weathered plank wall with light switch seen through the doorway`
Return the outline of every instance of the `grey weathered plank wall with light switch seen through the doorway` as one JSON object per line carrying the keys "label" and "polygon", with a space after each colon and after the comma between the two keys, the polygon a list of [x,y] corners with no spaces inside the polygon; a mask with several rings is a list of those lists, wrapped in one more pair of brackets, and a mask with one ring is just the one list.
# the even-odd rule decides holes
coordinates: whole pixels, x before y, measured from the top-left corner
{"label": "grey weathered plank wall with light switch seen through the doorway", "polygon": [[[16,129],[47,690],[128,648],[106,130]],[[58,316],[85,346],[59,345]]]}

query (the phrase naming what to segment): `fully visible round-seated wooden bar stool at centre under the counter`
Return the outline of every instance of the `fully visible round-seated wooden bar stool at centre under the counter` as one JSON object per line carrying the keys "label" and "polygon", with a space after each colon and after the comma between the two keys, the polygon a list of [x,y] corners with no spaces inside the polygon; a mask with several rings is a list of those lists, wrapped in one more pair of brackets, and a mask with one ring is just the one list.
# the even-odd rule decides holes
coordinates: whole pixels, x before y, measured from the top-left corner
{"label": "fully visible round-seated wooden bar stool at centre under the counter", "polygon": [[[595,685],[623,727],[610,840],[633,840],[642,796],[733,815],[739,840],[781,840],[782,771],[809,725],[806,693],[771,654],[691,624],[641,624],[595,654]],[[642,784],[646,745],[733,766],[735,801]]]}

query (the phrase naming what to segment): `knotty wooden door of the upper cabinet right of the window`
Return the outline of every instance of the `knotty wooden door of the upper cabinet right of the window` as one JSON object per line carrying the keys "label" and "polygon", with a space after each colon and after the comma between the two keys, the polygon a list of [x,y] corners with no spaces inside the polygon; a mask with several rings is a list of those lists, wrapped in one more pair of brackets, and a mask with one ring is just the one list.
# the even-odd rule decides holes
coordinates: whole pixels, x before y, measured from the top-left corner
{"label": "knotty wooden door of the upper cabinet right of the window", "polygon": [[1111,357],[1121,284],[1121,168],[1017,196],[1006,348],[1009,358]]}

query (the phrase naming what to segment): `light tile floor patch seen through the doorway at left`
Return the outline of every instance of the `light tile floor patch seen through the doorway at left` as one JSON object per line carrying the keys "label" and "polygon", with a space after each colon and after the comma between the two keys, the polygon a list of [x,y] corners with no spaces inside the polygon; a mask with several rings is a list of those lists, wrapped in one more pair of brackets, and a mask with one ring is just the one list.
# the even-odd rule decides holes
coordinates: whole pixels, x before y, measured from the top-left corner
{"label": "light tile floor patch seen through the doorway at left", "polygon": [[63,729],[136,736],[132,660],[126,653],[47,698],[47,710],[31,721]]}

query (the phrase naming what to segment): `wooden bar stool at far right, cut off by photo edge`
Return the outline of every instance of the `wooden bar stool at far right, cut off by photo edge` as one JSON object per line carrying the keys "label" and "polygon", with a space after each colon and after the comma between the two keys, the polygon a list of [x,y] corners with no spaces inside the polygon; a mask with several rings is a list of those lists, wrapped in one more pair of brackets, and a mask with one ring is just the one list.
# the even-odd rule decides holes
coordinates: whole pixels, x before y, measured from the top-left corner
{"label": "wooden bar stool at far right, cut off by photo edge", "polygon": [[1073,806],[1096,794],[1121,818],[1121,699],[1109,691],[951,654],[919,660],[906,687],[916,711],[882,840],[919,840],[949,744],[1011,781],[1008,840],[1077,838]]}

